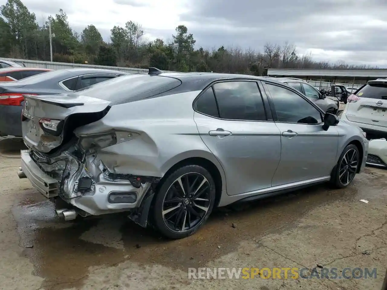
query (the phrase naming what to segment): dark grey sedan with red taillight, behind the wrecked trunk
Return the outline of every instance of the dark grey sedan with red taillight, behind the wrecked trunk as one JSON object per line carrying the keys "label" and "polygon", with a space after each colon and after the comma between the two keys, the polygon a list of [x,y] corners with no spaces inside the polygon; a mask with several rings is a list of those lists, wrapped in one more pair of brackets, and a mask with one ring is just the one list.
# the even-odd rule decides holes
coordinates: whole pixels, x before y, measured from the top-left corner
{"label": "dark grey sedan with red taillight, behind the wrecked trunk", "polygon": [[22,136],[24,95],[74,92],[128,73],[98,68],[73,68],[41,73],[15,82],[0,83],[0,135]]}

